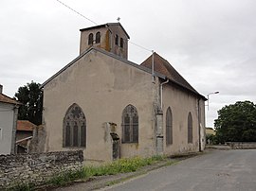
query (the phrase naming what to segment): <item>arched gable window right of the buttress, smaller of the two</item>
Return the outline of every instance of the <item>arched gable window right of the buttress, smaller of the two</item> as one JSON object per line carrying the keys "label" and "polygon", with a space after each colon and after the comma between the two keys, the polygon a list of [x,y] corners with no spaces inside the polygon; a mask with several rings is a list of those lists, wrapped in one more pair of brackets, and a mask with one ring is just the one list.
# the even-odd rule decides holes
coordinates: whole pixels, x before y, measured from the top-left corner
{"label": "arched gable window right of the buttress, smaller of the two", "polygon": [[122,143],[138,143],[138,115],[136,107],[128,105],[122,111]]}

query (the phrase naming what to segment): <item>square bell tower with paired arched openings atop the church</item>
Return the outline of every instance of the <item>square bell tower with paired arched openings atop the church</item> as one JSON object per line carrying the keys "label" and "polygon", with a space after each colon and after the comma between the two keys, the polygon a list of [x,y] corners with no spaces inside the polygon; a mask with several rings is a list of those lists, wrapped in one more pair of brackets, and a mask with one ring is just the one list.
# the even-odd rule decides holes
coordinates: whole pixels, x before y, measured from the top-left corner
{"label": "square bell tower with paired arched openings atop the church", "polygon": [[128,59],[128,33],[120,23],[108,23],[101,26],[92,26],[80,29],[80,54],[96,46],[108,52]]}

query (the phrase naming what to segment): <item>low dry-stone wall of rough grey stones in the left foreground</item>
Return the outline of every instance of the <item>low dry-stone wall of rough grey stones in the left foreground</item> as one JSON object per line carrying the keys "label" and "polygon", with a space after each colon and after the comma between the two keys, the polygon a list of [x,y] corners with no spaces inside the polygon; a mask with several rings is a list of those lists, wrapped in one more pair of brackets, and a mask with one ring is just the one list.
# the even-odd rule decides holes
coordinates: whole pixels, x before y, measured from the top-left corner
{"label": "low dry-stone wall of rough grey stones in the left foreground", "polygon": [[40,185],[64,171],[82,168],[82,150],[0,155],[0,190],[19,183]]}

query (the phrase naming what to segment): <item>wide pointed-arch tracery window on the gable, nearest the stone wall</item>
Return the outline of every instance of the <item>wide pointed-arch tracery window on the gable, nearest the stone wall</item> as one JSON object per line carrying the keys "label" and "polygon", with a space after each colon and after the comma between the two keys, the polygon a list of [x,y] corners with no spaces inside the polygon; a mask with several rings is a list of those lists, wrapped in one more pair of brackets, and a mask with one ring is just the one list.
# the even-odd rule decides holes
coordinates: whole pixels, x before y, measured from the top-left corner
{"label": "wide pointed-arch tracery window on the gable, nearest the stone wall", "polygon": [[64,116],[64,148],[85,148],[86,119],[82,109],[74,103]]}

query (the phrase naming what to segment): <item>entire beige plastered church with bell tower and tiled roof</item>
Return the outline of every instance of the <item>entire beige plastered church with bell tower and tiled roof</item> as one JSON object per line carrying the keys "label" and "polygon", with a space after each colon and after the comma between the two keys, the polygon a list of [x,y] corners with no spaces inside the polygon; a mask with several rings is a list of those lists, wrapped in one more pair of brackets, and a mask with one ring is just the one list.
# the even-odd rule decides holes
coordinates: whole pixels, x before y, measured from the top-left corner
{"label": "entire beige plastered church with bell tower and tiled roof", "polygon": [[81,29],[80,55],[41,86],[45,151],[111,161],[204,149],[206,98],[156,53],[128,61],[129,38],[119,23]]}

